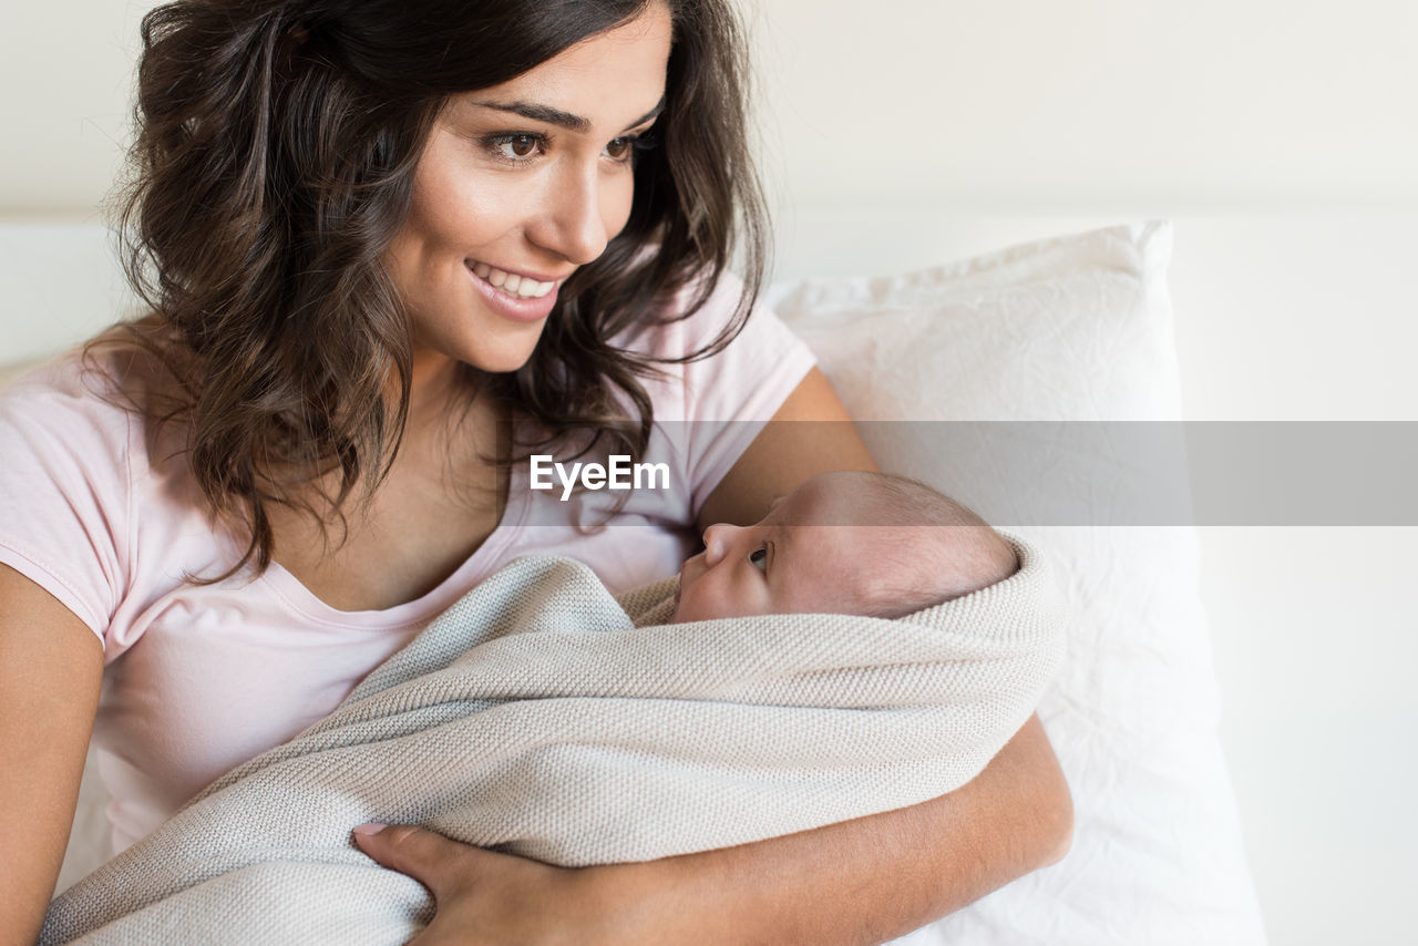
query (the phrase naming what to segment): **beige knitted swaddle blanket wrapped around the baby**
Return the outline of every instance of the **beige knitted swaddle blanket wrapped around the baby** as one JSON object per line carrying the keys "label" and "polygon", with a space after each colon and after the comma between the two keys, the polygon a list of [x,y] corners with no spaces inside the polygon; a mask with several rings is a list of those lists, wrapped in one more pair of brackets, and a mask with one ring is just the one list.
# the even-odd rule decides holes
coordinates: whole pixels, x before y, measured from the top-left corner
{"label": "beige knitted swaddle blanket wrapped around the baby", "polygon": [[1012,577],[893,621],[664,624],[674,579],[617,601],[576,562],[513,562],[329,718],[60,895],[41,943],[403,943],[432,901],[353,845],[364,821],[573,867],[944,794],[1062,654],[1056,591],[1011,542]]}

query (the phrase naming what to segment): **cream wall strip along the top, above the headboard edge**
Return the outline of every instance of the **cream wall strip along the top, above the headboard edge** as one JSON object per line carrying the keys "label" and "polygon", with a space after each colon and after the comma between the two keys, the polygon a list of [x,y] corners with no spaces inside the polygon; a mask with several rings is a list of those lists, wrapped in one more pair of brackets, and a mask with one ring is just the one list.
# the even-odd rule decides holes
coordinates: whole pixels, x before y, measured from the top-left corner
{"label": "cream wall strip along the top, above the headboard edge", "polygon": [[[1411,0],[740,4],[767,163],[798,200],[1418,203]],[[106,191],[152,6],[7,6],[0,213]]]}

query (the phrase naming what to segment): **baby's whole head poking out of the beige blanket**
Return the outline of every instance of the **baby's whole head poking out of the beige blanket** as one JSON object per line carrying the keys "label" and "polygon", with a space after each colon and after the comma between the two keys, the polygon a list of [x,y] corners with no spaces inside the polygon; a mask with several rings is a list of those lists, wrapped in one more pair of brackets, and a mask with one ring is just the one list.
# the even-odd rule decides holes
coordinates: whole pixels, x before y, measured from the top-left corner
{"label": "baby's whole head poking out of the beige blanket", "polygon": [[709,526],[705,550],[679,570],[674,620],[902,617],[1018,567],[998,532],[929,486],[883,474],[821,474],[752,526]]}

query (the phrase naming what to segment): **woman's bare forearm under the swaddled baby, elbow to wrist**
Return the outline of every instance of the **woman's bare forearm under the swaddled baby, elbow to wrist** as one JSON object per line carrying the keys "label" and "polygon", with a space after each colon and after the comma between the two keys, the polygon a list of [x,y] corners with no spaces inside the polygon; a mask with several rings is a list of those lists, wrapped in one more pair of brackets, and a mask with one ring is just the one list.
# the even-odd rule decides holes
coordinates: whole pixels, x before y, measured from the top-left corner
{"label": "woman's bare forearm under the swaddled baby, elbow to wrist", "polygon": [[[1064,857],[1068,786],[1038,719],[973,781],[783,838],[597,868],[618,943],[861,946],[902,936]],[[620,889],[615,888],[620,885]]]}

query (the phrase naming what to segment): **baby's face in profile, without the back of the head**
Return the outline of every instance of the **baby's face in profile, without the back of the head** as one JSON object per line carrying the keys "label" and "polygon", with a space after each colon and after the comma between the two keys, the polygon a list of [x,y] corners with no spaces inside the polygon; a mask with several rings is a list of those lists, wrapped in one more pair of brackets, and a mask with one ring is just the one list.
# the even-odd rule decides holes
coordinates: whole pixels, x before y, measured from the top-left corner
{"label": "baby's face in profile, without the back of the head", "polygon": [[679,569],[672,620],[858,613],[879,577],[878,546],[893,532],[837,525],[852,522],[862,488],[849,474],[815,477],[752,526],[709,526],[705,550]]}

